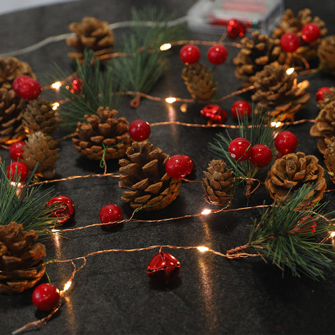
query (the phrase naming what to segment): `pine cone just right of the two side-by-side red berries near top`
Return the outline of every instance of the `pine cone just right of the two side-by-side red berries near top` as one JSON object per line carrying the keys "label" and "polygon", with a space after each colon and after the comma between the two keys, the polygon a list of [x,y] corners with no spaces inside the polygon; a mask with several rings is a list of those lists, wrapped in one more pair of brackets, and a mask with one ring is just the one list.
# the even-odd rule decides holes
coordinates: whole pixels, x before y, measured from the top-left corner
{"label": "pine cone just right of the two side-by-side red berries near top", "polygon": [[290,65],[291,59],[281,49],[280,40],[262,35],[254,31],[252,38],[241,39],[241,50],[232,59],[236,66],[235,76],[244,80],[244,87],[248,87],[255,81],[255,73],[263,70],[264,66],[276,62],[278,64]]}

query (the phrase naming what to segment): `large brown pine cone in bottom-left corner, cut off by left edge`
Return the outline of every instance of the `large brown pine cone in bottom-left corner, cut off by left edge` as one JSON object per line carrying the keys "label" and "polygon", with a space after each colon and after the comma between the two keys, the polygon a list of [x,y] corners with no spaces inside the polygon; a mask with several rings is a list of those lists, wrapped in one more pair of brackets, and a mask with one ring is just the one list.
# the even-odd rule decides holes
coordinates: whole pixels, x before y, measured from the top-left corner
{"label": "large brown pine cone in bottom-left corner, cut off by left edge", "polygon": [[0,225],[0,293],[21,293],[42,278],[46,251],[36,239],[34,230],[16,222]]}

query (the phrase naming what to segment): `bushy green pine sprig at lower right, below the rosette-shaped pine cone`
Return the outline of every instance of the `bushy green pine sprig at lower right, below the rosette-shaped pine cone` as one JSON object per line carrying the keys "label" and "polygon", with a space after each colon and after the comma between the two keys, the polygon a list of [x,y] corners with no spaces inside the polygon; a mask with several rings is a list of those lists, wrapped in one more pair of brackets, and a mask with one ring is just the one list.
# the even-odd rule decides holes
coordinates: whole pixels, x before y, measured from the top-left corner
{"label": "bushy green pine sprig at lower right, below the rosette-shaped pine cone", "polygon": [[331,244],[318,243],[316,239],[334,229],[334,222],[325,219],[334,213],[322,214],[325,204],[311,204],[306,208],[311,191],[313,187],[305,184],[289,199],[274,203],[271,209],[263,209],[260,221],[253,222],[248,245],[283,274],[288,268],[293,276],[304,274],[319,280],[325,278],[325,269],[334,267],[335,252]]}

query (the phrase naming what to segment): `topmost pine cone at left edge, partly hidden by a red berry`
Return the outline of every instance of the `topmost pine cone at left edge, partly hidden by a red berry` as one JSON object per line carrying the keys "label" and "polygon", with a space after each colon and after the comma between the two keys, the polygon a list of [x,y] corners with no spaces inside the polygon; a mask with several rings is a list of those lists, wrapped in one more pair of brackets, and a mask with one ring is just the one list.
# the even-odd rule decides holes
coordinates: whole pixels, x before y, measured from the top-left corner
{"label": "topmost pine cone at left edge, partly hidden by a red berry", "polygon": [[15,57],[0,58],[0,87],[12,88],[12,83],[19,75],[29,75],[36,79],[29,64]]}

